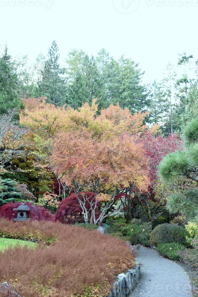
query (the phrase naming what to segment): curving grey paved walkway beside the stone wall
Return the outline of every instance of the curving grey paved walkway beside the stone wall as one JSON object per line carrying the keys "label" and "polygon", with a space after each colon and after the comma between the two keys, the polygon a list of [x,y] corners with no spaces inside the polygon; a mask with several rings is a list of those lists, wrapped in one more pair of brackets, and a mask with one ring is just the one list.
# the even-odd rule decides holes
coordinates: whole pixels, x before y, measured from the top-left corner
{"label": "curving grey paved walkway beside the stone wall", "polygon": [[143,246],[137,250],[141,264],[140,283],[130,297],[191,297],[192,286],[184,269]]}

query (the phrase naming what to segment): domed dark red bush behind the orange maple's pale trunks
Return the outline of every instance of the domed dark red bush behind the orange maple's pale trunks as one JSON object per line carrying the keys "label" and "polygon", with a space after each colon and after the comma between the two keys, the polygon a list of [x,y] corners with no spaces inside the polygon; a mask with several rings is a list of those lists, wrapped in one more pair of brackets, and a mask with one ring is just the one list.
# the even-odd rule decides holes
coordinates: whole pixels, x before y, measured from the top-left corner
{"label": "domed dark red bush behind the orange maple's pale trunks", "polygon": [[[95,194],[92,192],[86,192],[84,193],[87,197],[86,201],[86,208],[90,209],[90,203],[91,200],[95,197]],[[81,194],[78,194],[78,197],[82,199]],[[96,208],[96,219],[100,216],[100,208],[101,205],[98,202],[97,208]],[[89,218],[91,217],[91,211],[89,213]],[[78,202],[78,199],[76,197],[75,193],[72,193],[70,196],[65,198],[60,205],[58,206],[57,211],[54,214],[54,220],[55,222],[61,222],[63,224],[75,224],[75,223],[83,223],[84,222],[84,216],[82,215],[82,209],[80,206],[80,203]]]}

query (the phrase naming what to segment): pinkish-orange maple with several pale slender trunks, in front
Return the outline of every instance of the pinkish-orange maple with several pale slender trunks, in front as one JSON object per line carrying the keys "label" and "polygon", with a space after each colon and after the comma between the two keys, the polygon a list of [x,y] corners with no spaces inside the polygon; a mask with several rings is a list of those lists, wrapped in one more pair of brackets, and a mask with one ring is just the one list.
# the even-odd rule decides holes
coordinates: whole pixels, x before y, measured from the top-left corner
{"label": "pinkish-orange maple with several pale slender trunks, in front", "polygon": [[[148,186],[144,149],[128,134],[98,141],[87,131],[61,133],[54,141],[50,161],[62,181],[74,188],[86,223],[91,212],[94,223],[100,224],[114,205],[119,189],[127,188],[131,181],[141,190]],[[95,194],[90,209],[86,207],[86,195],[77,195],[83,192]],[[96,219],[98,201],[106,206]]]}

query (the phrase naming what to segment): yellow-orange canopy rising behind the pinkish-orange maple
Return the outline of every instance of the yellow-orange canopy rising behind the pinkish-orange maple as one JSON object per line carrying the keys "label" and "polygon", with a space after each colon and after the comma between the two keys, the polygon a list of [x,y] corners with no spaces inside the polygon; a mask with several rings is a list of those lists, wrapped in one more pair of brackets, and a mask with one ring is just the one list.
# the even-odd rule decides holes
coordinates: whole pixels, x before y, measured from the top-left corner
{"label": "yellow-orange canopy rising behind the pinkish-orange maple", "polygon": [[[46,103],[46,98],[23,99],[24,109],[20,113],[21,126],[28,127],[42,141],[53,139],[59,132],[76,132],[86,129],[94,138],[114,138],[115,133],[128,132],[130,135],[140,135],[150,128],[143,125],[148,112],[138,112],[131,115],[129,109],[122,109],[117,104],[110,105],[97,115],[97,99],[92,105],[84,103],[82,107],[73,109],[56,107]],[[157,125],[153,128],[157,129]]]}

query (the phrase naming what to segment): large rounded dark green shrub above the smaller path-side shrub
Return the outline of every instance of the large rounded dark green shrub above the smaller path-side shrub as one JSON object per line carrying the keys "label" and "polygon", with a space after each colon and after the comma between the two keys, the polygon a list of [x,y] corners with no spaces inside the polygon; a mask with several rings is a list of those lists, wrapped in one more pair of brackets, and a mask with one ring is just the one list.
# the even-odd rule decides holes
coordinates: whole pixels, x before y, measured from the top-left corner
{"label": "large rounded dark green shrub above the smaller path-side shrub", "polygon": [[155,227],[151,232],[150,242],[152,245],[157,246],[160,243],[171,243],[178,242],[185,246],[189,246],[186,242],[186,237],[189,233],[186,229],[176,225],[176,224],[161,224]]}

